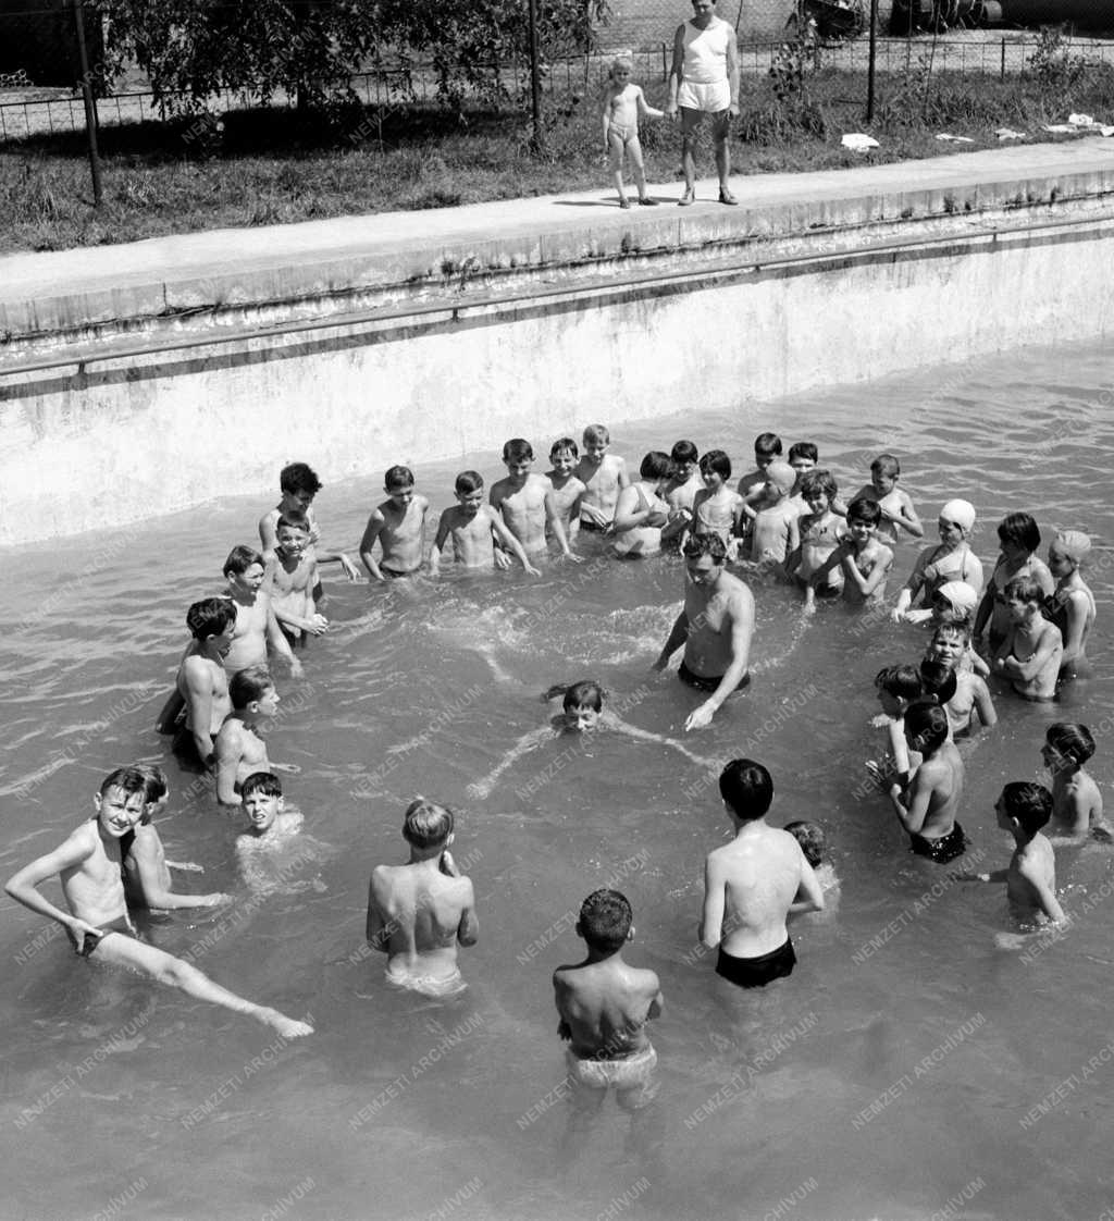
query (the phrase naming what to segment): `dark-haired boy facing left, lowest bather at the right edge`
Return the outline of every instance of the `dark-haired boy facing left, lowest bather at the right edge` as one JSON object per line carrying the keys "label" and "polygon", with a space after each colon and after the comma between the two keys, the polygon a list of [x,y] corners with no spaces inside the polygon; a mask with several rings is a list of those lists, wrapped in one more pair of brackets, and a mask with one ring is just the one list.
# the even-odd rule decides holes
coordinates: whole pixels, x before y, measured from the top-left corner
{"label": "dark-haired boy facing left, lowest bather at the right edge", "polygon": [[[1055,896],[1055,852],[1041,828],[1052,817],[1052,794],[1027,780],[1005,785],[994,803],[997,823],[1014,838],[1014,855],[1005,869],[981,873],[981,882],[1004,882],[1010,911],[1018,919],[1068,923]],[[1007,943],[1013,944],[1013,943]]]}

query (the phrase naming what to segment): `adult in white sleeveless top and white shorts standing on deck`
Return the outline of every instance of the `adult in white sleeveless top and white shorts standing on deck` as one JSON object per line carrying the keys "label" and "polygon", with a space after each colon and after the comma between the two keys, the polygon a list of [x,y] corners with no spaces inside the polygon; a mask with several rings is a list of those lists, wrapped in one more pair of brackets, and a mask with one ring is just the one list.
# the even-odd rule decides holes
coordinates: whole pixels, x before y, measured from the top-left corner
{"label": "adult in white sleeveless top and white shorts standing on deck", "polygon": [[677,27],[674,38],[674,66],[669,74],[670,118],[681,110],[681,161],[685,166],[682,208],[697,198],[697,165],[693,156],[697,132],[705,114],[711,115],[715,165],[720,175],[720,203],[737,204],[727,177],[731,151],[727,136],[731,120],[738,117],[738,46],[735,27],[715,15],[716,0],[692,0],[691,21]]}

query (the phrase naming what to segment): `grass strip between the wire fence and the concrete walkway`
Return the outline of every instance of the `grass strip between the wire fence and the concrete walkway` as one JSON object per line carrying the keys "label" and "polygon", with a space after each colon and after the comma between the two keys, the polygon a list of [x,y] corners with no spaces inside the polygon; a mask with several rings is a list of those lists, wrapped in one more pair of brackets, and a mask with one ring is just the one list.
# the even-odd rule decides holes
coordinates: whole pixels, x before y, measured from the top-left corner
{"label": "grass strip between the wire fence and the concrete walkway", "polygon": [[[661,106],[665,83],[645,84]],[[769,79],[744,79],[732,155],[738,175],[830,170],[864,158],[841,148],[868,131],[875,161],[997,147],[994,129],[1052,139],[1043,122],[1083,111],[1114,118],[1114,68],[1071,82],[1026,76],[998,81],[925,72],[880,76],[876,120],[864,125],[865,76],[810,73],[804,93],[778,100]],[[144,123],[101,131],[105,204],[92,206],[82,136],[31,137],[0,147],[0,252],[57,250],[248,225],[279,225],[364,212],[444,208],[594,187],[613,193],[604,166],[595,87],[548,103],[547,143],[530,148],[521,110],[469,114],[429,107],[383,116],[382,144],[370,111],[340,125],[290,110],[229,112],[215,125]],[[938,132],[970,136],[946,144]],[[1068,137],[1070,138],[1070,137]],[[680,136],[664,121],[643,127],[650,182],[678,177]],[[700,172],[713,172],[705,149]],[[746,200],[746,183],[737,192]]]}

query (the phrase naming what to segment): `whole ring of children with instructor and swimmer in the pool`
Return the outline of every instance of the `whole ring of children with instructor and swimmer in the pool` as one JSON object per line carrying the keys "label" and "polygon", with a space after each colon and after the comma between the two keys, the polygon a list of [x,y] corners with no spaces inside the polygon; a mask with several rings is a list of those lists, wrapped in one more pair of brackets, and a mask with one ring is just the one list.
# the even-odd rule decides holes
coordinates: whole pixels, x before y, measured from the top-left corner
{"label": "whole ring of children with instructor and swimmer in the pool", "polygon": [[[708,725],[750,681],[754,597],[739,573],[775,574],[793,582],[805,613],[826,598],[879,613],[894,548],[903,536],[924,536],[913,502],[898,486],[900,468],[891,454],[875,459],[870,481],[843,503],[809,442],[794,444],[783,460],[780,438],[763,433],[755,441],[755,469],[736,484],[730,459],[719,449],[699,457],[692,442],[680,441],[669,454],[645,454],[632,479],[623,459],[609,453],[609,443],[603,425],[584,431],[583,453],[562,437],[550,451],[552,469],[541,475],[531,471],[528,442],[509,441],[503,451],[508,474],[493,485],[487,503],[478,473],[456,476],[456,503],[440,514],[428,556],[429,502],[415,491],[408,468],[392,466],[387,498],[372,512],[360,541],[368,578],[405,580],[426,564],[436,576],[450,549],[464,569],[493,570],[517,562],[537,574],[537,562],[552,545],[580,563],[583,557],[573,543],[582,534],[597,535],[602,547],[630,560],[680,548],[685,602],[654,668],[664,669],[683,647],[678,676],[705,696],[686,720],[686,729],[693,730]],[[278,705],[268,656],[298,675],[301,645],[328,630],[317,608],[320,563],[338,563],[349,578],[358,576],[348,556],[320,545],[312,499],[321,484],[314,471],[292,464],[282,471],[281,487],[281,503],[259,524],[261,549],[234,547],[225,564],[227,593],[190,606],[190,643],[159,719],[161,731],[176,735],[178,757],[214,774],[217,800],[243,808],[250,830],[242,860],[289,842],[301,823],[300,814],[284,808],[276,774],[282,766],[270,759],[257,733]],[[931,642],[919,664],[891,665],[876,678],[882,708],[877,723],[887,731],[888,750],[871,764],[872,774],[888,792],[911,850],[941,863],[966,847],[957,821],[964,763],[955,737],[979,723],[994,724],[986,679],[999,678],[1026,700],[1053,698],[1059,681],[1085,672],[1094,621],[1094,598],[1080,573],[1091,546],[1086,535],[1057,534],[1046,565],[1036,554],[1041,536],[1033,519],[1009,514],[998,527],[1001,554],[983,582],[970,546],[974,529],[969,502],[944,504],[940,543],[919,554],[888,612],[894,620],[929,620]],[[985,656],[972,646],[983,634]],[[548,696],[562,698],[553,720],[559,733],[611,725],[695,758],[683,745],[605,711],[606,692],[594,681],[553,687]],[[509,759],[539,740],[531,735]],[[1051,725],[1042,758],[1052,790],[1008,784],[998,800],[998,825],[1012,833],[1016,850],[1005,869],[974,877],[1004,882],[1022,917],[1065,919],[1055,895],[1052,841],[1041,834],[1051,819],[1075,838],[1109,838],[1098,786],[1083,768],[1093,751],[1085,725]],[[473,786],[473,795],[486,795],[504,769],[498,767]],[[730,761],[720,769],[719,788],[735,836],[706,860],[699,935],[705,946],[719,950],[720,976],[742,988],[759,988],[793,969],[788,918],[822,910],[825,891],[837,882],[819,827],[767,823],[774,783],[761,763]],[[94,795],[94,817],[59,849],[21,869],[7,893],[57,921],[83,957],[132,967],[253,1016],[287,1038],[311,1033],[306,1022],[244,1000],[193,963],[139,939],[129,908],[228,901],[222,894],[174,893],[171,869],[190,867],[165,860],[154,818],[166,797],[160,768],[113,770]],[[387,955],[392,983],[451,996],[465,987],[458,946],[473,944],[478,934],[472,883],[450,851],[453,812],[417,797],[405,811],[403,835],[406,863],[372,873],[367,941]],[[39,889],[54,875],[61,880],[65,911]],[[655,1054],[645,1026],[661,1012],[658,977],[622,957],[633,927],[631,906],[619,891],[589,895],[576,930],[586,943],[586,958],[554,973],[570,1072],[588,1089],[614,1085],[620,1103],[637,1109],[653,1095]]]}

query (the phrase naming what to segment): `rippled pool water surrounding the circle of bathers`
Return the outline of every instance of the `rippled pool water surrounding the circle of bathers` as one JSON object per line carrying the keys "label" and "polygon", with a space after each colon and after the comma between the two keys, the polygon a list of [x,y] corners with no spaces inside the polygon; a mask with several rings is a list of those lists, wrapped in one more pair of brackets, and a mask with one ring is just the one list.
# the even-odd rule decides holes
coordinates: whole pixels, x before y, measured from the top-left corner
{"label": "rippled pool water surrounding the circle of bathers", "polygon": [[[1114,773],[1109,369],[1097,347],[1027,350],[613,429],[633,466],[685,436],[727,449],[737,474],[754,435],[774,429],[787,444],[814,440],[852,492],[892,451],[930,541],[943,501],[975,503],[987,564],[1010,510],[1033,513],[1046,542],[1054,527],[1091,532],[1094,676],[1058,706],[1001,696],[997,729],[965,747],[961,821],[980,869],[1008,860],[993,803],[1007,780],[1040,777],[1048,722],[1088,723],[1103,789]],[[539,453],[550,440],[533,438]],[[419,468],[434,510],[465,466],[501,474],[495,454]],[[381,482],[326,487],[329,545],[355,557]],[[597,540],[581,543],[588,563],[554,563],[541,579],[450,571],[372,587],[326,570],[333,628],[307,650],[305,678],[282,679],[268,734],[271,757],[301,768],[287,790],[305,839],[273,893],[248,893],[233,852],[242,827],[190,789],[150,726],[185,607],[220,592],[225,556],[255,541],[265,507],[229,497],[7,551],[0,869],[61,842],[110,768],[162,759],[167,856],[205,868],[178,885],[233,891],[237,905],[151,921],[148,935],[193,950],[251,999],[311,1015],[317,1033],[284,1045],[78,963],[54,926],[7,904],[0,1216],[1074,1221],[1110,1208],[1114,855],[1058,851],[1076,923],[1022,955],[996,944],[1013,928],[1002,888],[909,853],[863,763],[880,750],[872,676],[915,661],[921,629],[864,626],[841,606],[805,621],[793,591],[755,589],[755,681],[686,745],[763,761],[772,821],[824,824],[842,894],[794,923],[792,978],[743,994],[697,949],[703,858],[730,832],[708,769],[599,733],[547,742],[487,796],[467,794],[542,723],[538,694],[555,681],[598,678],[632,724],[685,736],[699,697],[650,673],[682,565],[595,562]],[[900,547],[891,596],[915,554]],[[454,851],[478,899],[480,944],[461,952],[470,988],[449,1002],[389,990],[364,944],[368,874],[405,858],[399,828],[416,792],[456,810]],[[613,1099],[586,1117],[561,1096],[550,973],[580,956],[575,910],[604,884],[631,899],[628,957],[665,994],[652,1031],[660,1093],[633,1120]],[[57,897],[56,884],[46,891]]]}

